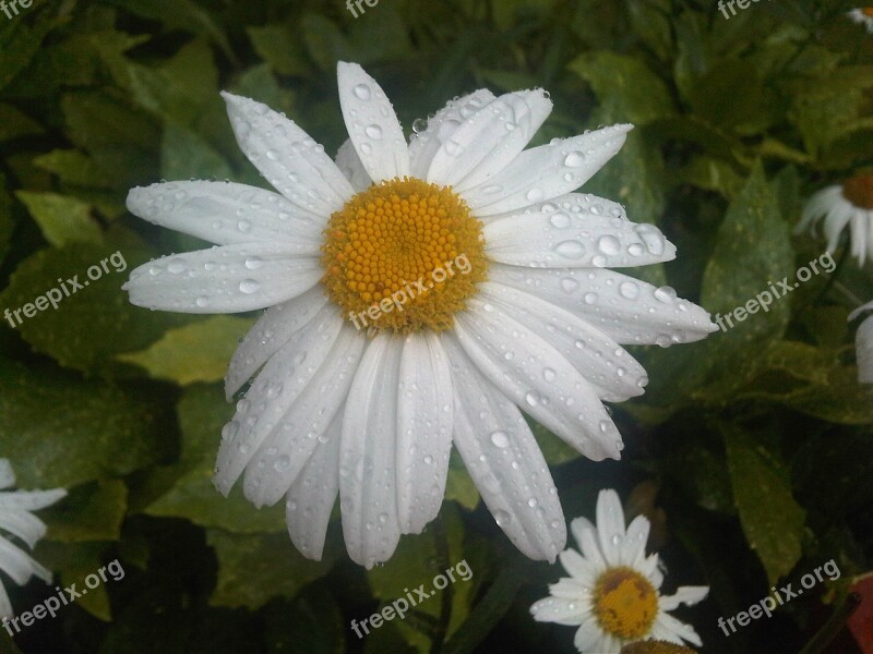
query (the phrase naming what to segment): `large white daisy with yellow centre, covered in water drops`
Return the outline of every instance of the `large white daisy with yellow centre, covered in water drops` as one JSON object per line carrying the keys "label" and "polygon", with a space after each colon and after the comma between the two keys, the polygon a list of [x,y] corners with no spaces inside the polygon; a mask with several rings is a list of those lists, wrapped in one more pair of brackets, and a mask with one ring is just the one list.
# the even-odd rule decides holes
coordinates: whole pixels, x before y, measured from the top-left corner
{"label": "large white daisy with yellow centre, covered in water drops", "polygon": [[[535,559],[566,530],[519,407],[583,455],[619,458],[602,400],[643,392],[622,343],[701,339],[701,307],[609,267],[675,247],[608,199],[572,193],[624,142],[615,125],[524,149],[541,89],[455,99],[409,144],[382,88],[337,68],[350,138],[333,161],[265,105],[224,94],[237,141],[278,191],[133,189],[135,215],[217,247],[131,272],[132,303],[268,307],[234,355],[215,483],[256,506],[287,494],[291,540],[320,558],[339,495],[351,558],[391,557],[439,512],[454,443],[497,522]],[[260,370],[260,373],[259,373]]]}

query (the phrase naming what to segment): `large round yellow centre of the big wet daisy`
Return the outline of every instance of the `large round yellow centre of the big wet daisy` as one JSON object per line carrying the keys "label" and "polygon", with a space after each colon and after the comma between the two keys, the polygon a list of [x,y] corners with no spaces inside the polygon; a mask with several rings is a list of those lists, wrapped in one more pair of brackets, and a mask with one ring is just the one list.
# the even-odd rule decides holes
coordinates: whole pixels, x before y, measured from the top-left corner
{"label": "large round yellow centre of the big wet daisy", "polygon": [[383,181],[324,231],[327,295],[358,329],[450,329],[487,272],[482,223],[451,187]]}

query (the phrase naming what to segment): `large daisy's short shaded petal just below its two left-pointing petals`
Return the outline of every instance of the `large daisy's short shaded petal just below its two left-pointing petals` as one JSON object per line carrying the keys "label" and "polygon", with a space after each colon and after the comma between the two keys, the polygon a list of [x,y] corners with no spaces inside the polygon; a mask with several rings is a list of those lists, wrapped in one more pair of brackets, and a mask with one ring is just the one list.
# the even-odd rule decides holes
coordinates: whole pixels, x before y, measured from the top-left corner
{"label": "large daisy's short shaded petal just below its two left-pointing petals", "polygon": [[315,317],[327,304],[327,296],[321,287],[313,287],[306,293],[283,304],[271,306],[243,337],[234,352],[225,375],[225,396],[234,397],[246,382],[264,365],[291,336]]}

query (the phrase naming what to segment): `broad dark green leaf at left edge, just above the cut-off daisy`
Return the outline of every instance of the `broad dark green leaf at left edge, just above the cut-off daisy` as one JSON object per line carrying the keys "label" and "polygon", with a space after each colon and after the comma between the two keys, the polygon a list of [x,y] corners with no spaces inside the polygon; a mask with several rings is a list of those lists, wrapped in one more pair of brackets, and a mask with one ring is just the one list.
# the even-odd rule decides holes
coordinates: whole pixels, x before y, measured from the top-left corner
{"label": "broad dark green leaf at left edge, just above the cut-off daisy", "polygon": [[121,476],[167,456],[166,416],[140,387],[0,360],[0,451],[29,488]]}

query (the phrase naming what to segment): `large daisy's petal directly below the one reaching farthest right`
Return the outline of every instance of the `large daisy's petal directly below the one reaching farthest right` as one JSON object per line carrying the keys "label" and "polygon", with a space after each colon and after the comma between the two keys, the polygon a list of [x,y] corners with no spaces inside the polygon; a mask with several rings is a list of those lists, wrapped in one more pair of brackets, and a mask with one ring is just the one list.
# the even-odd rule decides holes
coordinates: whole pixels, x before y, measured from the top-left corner
{"label": "large daisy's petal directly below the one reaching farthest right", "polygon": [[566,310],[524,291],[493,283],[479,284],[483,300],[540,335],[595,386],[601,399],[620,402],[643,393],[645,368],[602,331]]}

